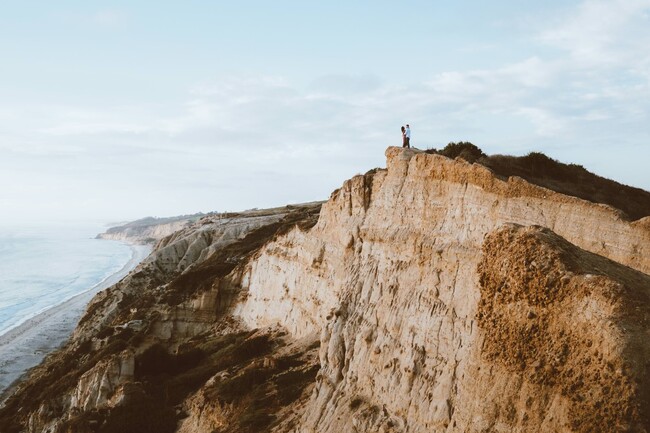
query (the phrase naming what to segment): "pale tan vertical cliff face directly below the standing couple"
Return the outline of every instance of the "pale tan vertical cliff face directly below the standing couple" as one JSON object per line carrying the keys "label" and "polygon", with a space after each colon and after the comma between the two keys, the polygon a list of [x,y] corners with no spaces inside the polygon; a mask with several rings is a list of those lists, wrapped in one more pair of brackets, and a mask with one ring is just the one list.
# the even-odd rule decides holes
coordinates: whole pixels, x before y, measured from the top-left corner
{"label": "pale tan vertical cliff face directly below the standing couple", "polygon": [[[647,273],[647,223],[463,161],[396,148],[387,158],[387,171],[335,192],[309,233],[269,243],[247,265],[236,310],[245,323],[322,332],[301,431],[581,431],[558,418],[566,390],[535,403],[538,418],[525,427],[501,398],[503,387],[527,385],[481,353],[481,246],[503,224],[536,224]],[[478,371],[499,386],[477,385]]]}

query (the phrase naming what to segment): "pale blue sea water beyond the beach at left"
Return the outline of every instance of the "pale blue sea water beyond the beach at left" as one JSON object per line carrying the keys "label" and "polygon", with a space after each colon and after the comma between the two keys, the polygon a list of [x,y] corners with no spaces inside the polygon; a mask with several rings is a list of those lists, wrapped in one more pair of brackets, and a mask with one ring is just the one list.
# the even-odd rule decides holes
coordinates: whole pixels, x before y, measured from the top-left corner
{"label": "pale blue sea water beyond the beach at left", "polygon": [[132,257],[99,225],[0,227],[0,335],[92,289]]}

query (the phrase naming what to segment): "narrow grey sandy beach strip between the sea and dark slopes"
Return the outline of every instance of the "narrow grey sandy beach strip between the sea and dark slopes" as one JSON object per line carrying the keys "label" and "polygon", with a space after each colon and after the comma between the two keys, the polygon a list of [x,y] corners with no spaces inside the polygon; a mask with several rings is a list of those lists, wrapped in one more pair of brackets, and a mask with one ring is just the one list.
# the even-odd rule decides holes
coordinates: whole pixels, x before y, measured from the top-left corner
{"label": "narrow grey sandy beach strip between the sea and dark slopes", "polygon": [[147,245],[130,245],[131,259],[118,272],[92,289],[52,307],[0,336],[0,401],[10,385],[45,355],[63,344],[95,294],[120,281],[151,252]]}

